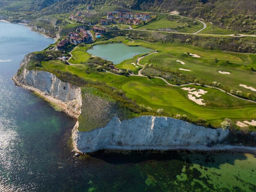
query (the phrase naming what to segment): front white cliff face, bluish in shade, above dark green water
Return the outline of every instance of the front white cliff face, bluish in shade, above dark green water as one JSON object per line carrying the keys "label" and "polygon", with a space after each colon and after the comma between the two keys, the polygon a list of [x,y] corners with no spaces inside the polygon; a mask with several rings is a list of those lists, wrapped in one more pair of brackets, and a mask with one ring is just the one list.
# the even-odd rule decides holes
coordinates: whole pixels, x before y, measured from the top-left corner
{"label": "front white cliff face, bluish in shade, above dark green water", "polygon": [[120,121],[114,116],[106,127],[72,131],[75,150],[93,152],[100,149],[210,149],[227,138],[229,129],[210,129],[185,121],[155,116],[141,116]]}

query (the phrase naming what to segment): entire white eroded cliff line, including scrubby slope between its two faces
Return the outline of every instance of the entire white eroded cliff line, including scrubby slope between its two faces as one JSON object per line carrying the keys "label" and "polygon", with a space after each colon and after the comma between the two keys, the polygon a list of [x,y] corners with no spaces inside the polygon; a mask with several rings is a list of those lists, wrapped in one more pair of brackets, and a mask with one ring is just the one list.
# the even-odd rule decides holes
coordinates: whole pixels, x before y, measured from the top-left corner
{"label": "entire white eroded cliff line, including scrubby slope between its two faces", "polygon": [[[244,143],[240,142],[243,139],[229,129],[211,129],[175,118],[132,114],[98,89],[65,83],[47,71],[28,70],[26,65],[30,59],[31,54],[25,56],[13,80],[58,104],[67,114],[78,119],[72,130],[77,152],[243,147]],[[246,137],[252,141],[247,146],[255,146],[256,134],[249,133]]]}

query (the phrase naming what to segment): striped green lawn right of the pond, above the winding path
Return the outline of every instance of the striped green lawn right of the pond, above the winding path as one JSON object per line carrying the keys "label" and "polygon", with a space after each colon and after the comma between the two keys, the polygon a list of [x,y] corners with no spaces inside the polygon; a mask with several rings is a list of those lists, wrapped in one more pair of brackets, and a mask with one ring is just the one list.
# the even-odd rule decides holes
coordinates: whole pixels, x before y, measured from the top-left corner
{"label": "striped green lawn right of the pond, above the winding path", "polygon": [[[241,54],[242,55],[242,54]],[[245,56],[245,55],[242,55]],[[173,70],[180,71],[184,74],[193,74],[196,76],[197,79],[205,79],[209,80],[210,82],[217,81],[220,82],[222,85],[228,85],[232,89],[238,89],[242,92],[250,92],[252,94],[256,94],[256,92],[251,91],[250,89],[245,89],[239,84],[247,85],[256,87],[256,72],[251,70],[245,70],[240,69],[240,67],[244,68],[245,64],[249,64],[250,57],[245,56],[245,58],[235,58],[233,56],[233,60],[241,61],[234,62],[234,64],[238,65],[238,67],[229,67],[231,64],[228,64],[227,66],[221,66],[218,65],[218,63],[224,62],[225,60],[221,61],[219,60],[218,63],[215,62],[214,58],[193,58],[191,56],[188,56],[187,54],[164,54],[164,53],[158,53],[158,54],[152,54],[149,56],[146,56],[142,60],[140,60],[140,64],[145,63],[152,63],[155,66],[159,67],[168,67]],[[181,60],[185,63],[185,65],[182,65],[181,63],[177,62],[176,60]],[[231,62],[230,62],[231,63]],[[239,65],[240,64],[240,65]],[[251,65],[253,65],[251,63]],[[254,64],[255,67],[255,64]],[[182,69],[189,69],[191,71],[181,71]],[[247,67],[248,69],[250,67]],[[227,71],[231,74],[220,74],[218,71]]]}

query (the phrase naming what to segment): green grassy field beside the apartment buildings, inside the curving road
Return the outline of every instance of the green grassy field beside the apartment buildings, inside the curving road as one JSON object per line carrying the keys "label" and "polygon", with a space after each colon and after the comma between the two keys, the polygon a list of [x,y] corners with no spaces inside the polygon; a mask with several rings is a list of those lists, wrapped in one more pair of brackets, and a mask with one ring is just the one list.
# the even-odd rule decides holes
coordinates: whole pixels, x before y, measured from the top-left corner
{"label": "green grassy field beside the apartment buildings, inside the curving road", "polygon": [[173,15],[161,15],[153,21],[138,27],[137,29],[175,29],[180,32],[194,33],[203,28],[203,24],[199,21],[190,18],[184,18]]}

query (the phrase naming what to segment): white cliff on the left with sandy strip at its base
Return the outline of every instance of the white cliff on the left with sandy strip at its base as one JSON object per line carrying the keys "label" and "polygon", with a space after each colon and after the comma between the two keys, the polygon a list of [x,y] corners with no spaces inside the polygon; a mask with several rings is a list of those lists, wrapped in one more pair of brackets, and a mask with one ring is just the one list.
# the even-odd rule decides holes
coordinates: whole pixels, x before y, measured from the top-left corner
{"label": "white cliff on the left with sandy strip at its base", "polygon": [[27,70],[26,65],[31,55],[25,56],[20,71],[13,77],[21,87],[35,91],[52,103],[61,107],[68,115],[78,118],[81,113],[81,89],[65,83],[47,71]]}

